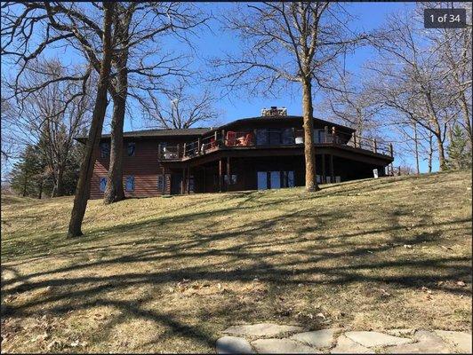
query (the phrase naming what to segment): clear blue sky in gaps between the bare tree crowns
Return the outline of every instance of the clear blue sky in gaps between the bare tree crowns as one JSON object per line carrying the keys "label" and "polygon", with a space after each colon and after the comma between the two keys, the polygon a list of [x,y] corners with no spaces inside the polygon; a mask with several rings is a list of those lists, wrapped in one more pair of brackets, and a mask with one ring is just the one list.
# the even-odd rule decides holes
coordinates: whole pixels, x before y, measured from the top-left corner
{"label": "clear blue sky in gaps between the bare tree crowns", "polygon": [[[197,3],[196,5],[202,6],[205,11],[212,11],[218,16],[221,12],[231,11],[234,4],[231,3]],[[347,26],[353,30],[365,30],[369,31],[373,28],[378,28],[382,25],[386,16],[391,12],[397,12],[400,10],[413,10],[415,7],[414,3],[349,3],[346,4],[347,10],[352,14],[354,20],[352,20]],[[221,53],[236,51],[238,49],[238,39],[232,34],[225,32],[221,29],[221,25],[217,20],[209,22],[209,28],[203,28],[198,33],[198,37],[192,38],[195,43],[196,53],[193,59],[192,67],[197,71],[209,70],[209,66],[205,61],[206,58],[218,57]],[[164,48],[160,50],[164,51],[181,51],[182,43],[177,41],[168,41],[162,43]],[[76,53],[71,51],[61,51],[55,53],[56,56],[60,56],[60,59],[75,63],[81,61]],[[360,48],[355,53],[349,54],[346,57],[346,68],[349,72],[357,73],[365,64],[366,60],[372,59],[374,56],[373,49],[371,48]],[[4,64],[4,60],[3,64]],[[2,71],[4,72],[5,67],[3,66]],[[6,69],[8,70],[8,69]],[[199,90],[200,85],[197,83],[193,88],[194,91]],[[287,107],[288,114],[301,114],[301,94],[299,91],[285,92],[277,98],[264,98],[264,97],[245,97],[238,99],[219,99],[216,103],[216,108],[221,112],[219,123],[230,122],[242,117],[250,117],[258,115],[261,112],[262,107],[268,106],[285,106]],[[319,114],[317,110],[317,94],[315,97],[315,116],[324,118]],[[111,112],[111,105],[108,106],[108,114]],[[106,121],[104,126],[104,132],[109,131],[109,120]],[[145,127],[145,123],[141,120],[140,108],[131,104],[131,109],[127,112],[127,116],[124,123],[124,130],[139,130]],[[409,163],[413,165],[412,160],[400,162],[397,160],[395,164]],[[427,164],[422,162],[421,170],[427,170]]]}

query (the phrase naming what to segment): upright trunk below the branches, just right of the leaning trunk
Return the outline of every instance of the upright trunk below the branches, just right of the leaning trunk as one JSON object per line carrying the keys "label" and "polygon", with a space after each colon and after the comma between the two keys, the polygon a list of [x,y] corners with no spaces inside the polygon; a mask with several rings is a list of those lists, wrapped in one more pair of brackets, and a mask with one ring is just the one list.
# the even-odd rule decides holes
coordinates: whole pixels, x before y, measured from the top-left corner
{"label": "upright trunk below the branches, just right of the leaning trunk", "polygon": [[113,117],[110,144],[110,163],[107,188],[103,201],[113,203],[124,200],[123,151],[124,151],[124,110],[126,98],[116,95],[113,98]]}

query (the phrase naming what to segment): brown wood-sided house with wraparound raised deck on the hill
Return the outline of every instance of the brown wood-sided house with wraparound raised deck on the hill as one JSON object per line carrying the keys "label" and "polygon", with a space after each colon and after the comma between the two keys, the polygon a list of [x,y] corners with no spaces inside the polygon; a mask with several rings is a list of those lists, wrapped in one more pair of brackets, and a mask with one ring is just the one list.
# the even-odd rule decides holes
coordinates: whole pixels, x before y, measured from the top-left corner
{"label": "brown wood-sided house with wraparound raised deck on the hill", "polygon": [[[124,132],[127,197],[215,193],[305,185],[302,117],[264,111],[220,127]],[[349,127],[314,119],[317,182],[386,175],[392,146]],[[84,142],[86,138],[77,138]],[[107,184],[109,135],[102,135],[90,198]]]}

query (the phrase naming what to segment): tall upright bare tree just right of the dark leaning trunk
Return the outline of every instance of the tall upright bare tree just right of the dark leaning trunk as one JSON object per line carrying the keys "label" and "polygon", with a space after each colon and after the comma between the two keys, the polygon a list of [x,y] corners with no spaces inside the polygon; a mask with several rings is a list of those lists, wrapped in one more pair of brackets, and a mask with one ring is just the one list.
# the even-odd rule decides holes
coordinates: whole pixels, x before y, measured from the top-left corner
{"label": "tall upright bare tree just right of the dark leaning trunk", "polygon": [[[110,160],[108,182],[104,202],[112,203],[124,199],[123,187],[123,128],[129,85],[133,88],[157,90],[167,76],[186,75],[180,70],[180,54],[168,55],[156,51],[157,39],[176,34],[186,39],[207,20],[192,4],[180,3],[117,3],[114,20],[115,55],[112,60],[116,74],[112,75],[109,87],[114,109],[111,122]],[[143,81],[145,83],[143,83]],[[129,83],[131,82],[131,83]]]}

